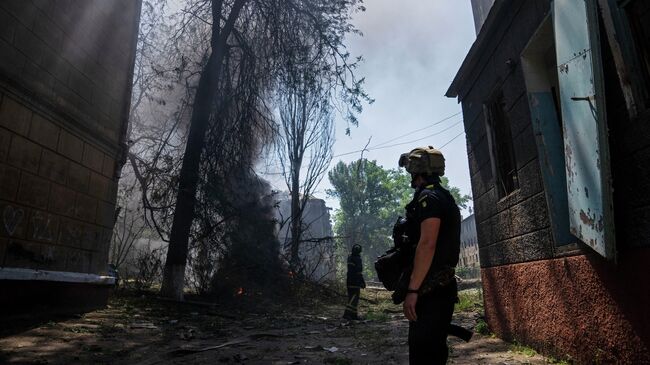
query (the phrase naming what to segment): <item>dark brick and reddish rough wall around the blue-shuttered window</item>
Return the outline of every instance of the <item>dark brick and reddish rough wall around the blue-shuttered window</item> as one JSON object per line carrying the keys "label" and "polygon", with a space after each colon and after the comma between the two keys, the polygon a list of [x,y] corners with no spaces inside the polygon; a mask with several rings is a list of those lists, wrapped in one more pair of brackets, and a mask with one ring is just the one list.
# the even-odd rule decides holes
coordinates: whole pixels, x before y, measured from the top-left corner
{"label": "dark brick and reddish rough wall around the blue-shuttered window", "polygon": [[[459,88],[486,318],[500,337],[578,363],[650,363],[650,115],[627,119],[611,56],[604,54],[618,262],[579,243],[568,251],[556,247],[519,64],[549,5],[526,0],[505,7]],[[520,185],[503,199],[495,191],[483,115],[497,88],[512,123]]]}

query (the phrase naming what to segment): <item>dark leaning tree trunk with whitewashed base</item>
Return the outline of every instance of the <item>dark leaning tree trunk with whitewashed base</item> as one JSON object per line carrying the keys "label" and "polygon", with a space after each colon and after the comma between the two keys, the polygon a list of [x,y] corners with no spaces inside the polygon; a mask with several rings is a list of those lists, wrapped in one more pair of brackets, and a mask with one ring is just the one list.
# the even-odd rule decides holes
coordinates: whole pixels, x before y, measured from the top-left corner
{"label": "dark leaning tree trunk with whitewashed base", "polygon": [[185,146],[185,155],[183,155],[174,219],[169,236],[162,287],[160,288],[160,295],[164,297],[176,300],[183,299],[189,234],[194,221],[196,187],[199,180],[199,167],[205,143],[205,132],[217,96],[219,75],[221,74],[226,52],[226,41],[245,2],[246,0],[235,2],[224,28],[219,29],[222,1],[213,0],[212,19],[215,28],[212,30],[212,49],[208,63],[201,72],[194,105],[192,106],[190,131]]}

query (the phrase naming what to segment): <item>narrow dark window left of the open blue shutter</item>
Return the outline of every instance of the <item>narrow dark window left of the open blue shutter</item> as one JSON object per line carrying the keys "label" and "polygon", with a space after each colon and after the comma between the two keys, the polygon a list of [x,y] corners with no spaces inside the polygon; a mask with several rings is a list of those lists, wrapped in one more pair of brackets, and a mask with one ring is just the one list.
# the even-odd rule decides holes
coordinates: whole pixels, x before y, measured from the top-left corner
{"label": "narrow dark window left of the open blue shutter", "polygon": [[493,94],[485,104],[484,110],[492,170],[499,198],[503,198],[519,188],[519,181],[510,120],[505,110],[505,101],[501,90]]}

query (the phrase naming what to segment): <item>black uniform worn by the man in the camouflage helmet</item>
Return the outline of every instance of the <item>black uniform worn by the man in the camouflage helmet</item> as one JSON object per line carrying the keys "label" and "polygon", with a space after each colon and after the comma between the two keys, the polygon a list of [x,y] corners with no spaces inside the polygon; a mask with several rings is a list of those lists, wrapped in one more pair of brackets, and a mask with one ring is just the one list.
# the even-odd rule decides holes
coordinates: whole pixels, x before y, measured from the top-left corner
{"label": "black uniform worn by the man in the camouflage helmet", "polygon": [[417,321],[409,323],[409,363],[445,364],[447,328],[458,301],[454,268],[460,252],[460,211],[449,191],[436,182],[415,191],[406,216],[418,228],[427,218],[440,219],[433,261],[418,294]]}

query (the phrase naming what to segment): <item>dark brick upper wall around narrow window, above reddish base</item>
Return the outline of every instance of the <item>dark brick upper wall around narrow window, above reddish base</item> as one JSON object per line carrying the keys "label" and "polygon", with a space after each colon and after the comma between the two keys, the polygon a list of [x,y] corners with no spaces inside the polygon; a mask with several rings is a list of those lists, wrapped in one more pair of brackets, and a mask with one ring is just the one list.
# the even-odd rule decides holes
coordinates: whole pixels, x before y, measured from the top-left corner
{"label": "dark brick upper wall around narrow window, above reddish base", "polygon": [[[521,51],[549,12],[549,1],[508,6],[477,66],[460,86],[482,267],[553,257],[553,238],[530,120]],[[516,20],[516,21],[515,21]],[[511,123],[519,189],[499,199],[492,173],[483,105],[503,90]]]}

